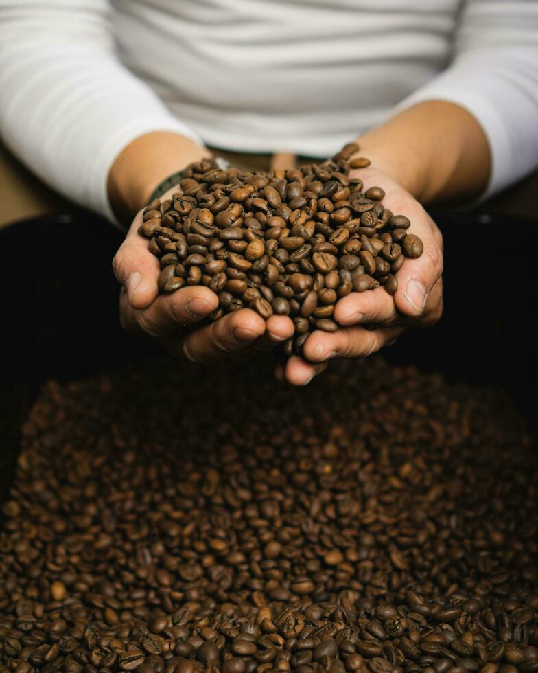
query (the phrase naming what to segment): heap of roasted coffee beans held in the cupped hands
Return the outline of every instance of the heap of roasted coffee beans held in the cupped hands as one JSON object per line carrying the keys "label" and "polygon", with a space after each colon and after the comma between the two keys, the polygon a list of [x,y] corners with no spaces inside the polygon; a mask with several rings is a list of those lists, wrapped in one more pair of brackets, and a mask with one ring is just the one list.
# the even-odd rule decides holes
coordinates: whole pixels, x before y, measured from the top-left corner
{"label": "heap of roasted coffee beans held in the cupped hands", "polygon": [[346,145],[330,161],[271,173],[192,163],[180,192],[143,211],[139,233],[161,262],[159,291],[204,285],[218,295],[211,314],[252,308],[289,315],[295,334],[286,355],[301,352],[309,332],[334,332],[334,306],[352,291],[379,285],[393,295],[396,273],[423,244],[410,220],[384,207],[382,187],[363,192]]}

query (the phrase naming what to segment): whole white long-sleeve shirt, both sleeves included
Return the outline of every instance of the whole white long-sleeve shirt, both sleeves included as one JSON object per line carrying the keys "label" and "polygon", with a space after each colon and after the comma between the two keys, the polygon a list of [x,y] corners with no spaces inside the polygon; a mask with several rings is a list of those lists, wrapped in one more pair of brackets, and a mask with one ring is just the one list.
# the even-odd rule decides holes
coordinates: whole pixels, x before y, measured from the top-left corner
{"label": "whole white long-sleeve shirt, both sleeves included", "polygon": [[433,99],[482,125],[488,193],[533,170],[538,1],[0,0],[1,136],[107,216],[144,133],[324,157]]}

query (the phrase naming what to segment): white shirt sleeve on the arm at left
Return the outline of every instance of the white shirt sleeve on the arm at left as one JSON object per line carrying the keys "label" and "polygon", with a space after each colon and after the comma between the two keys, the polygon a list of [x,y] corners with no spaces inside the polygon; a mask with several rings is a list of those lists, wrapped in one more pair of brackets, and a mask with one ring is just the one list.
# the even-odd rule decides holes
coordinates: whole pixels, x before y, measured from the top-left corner
{"label": "white shirt sleeve on the arm at left", "polygon": [[0,0],[0,134],[58,192],[110,219],[106,181],[130,141],[202,144],[115,52],[108,0]]}

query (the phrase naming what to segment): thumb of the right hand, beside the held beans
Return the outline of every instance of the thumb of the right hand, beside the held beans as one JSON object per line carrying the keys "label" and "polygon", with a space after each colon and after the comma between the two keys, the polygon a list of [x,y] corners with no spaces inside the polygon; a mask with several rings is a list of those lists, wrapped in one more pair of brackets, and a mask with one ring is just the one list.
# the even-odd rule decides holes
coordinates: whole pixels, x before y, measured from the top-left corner
{"label": "thumb of the right hand, beside the held beans", "polygon": [[409,233],[421,238],[424,249],[417,259],[407,259],[397,272],[398,289],[394,301],[404,315],[422,315],[428,295],[443,273],[443,239],[433,220],[423,216],[413,221]]}

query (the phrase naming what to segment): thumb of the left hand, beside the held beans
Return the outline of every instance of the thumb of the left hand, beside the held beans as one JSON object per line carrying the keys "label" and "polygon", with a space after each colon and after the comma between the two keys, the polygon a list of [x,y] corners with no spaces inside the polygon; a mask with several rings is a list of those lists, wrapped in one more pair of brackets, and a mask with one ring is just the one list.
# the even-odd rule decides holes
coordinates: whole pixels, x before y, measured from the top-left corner
{"label": "thumb of the left hand, beside the held beans", "polygon": [[148,250],[148,241],[138,233],[141,223],[139,213],[112,260],[114,275],[126,288],[132,308],[148,308],[159,294],[157,280],[161,267],[159,260]]}

